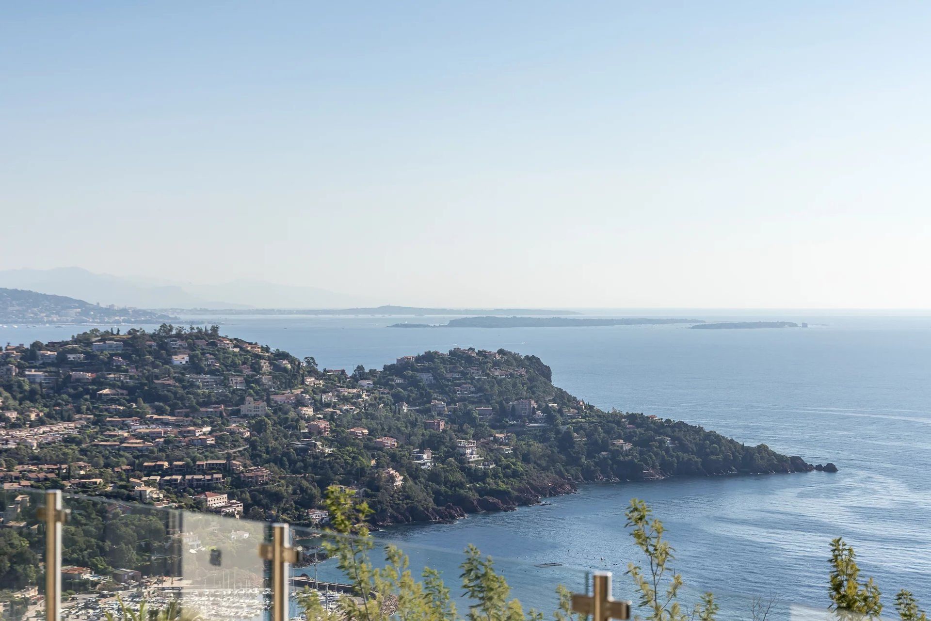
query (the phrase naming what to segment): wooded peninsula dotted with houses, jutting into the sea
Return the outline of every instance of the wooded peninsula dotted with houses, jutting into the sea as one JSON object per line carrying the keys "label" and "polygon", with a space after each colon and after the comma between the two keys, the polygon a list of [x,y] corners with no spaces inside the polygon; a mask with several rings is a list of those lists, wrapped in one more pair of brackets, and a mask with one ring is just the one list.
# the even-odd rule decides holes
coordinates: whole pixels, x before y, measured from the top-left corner
{"label": "wooded peninsula dotted with houses, jutting into the sea", "polygon": [[604,412],[542,360],[453,349],[381,370],[222,336],[88,331],[0,355],[0,479],[257,520],[326,520],[321,490],[387,524],[452,520],[586,481],[804,472],[700,426]]}

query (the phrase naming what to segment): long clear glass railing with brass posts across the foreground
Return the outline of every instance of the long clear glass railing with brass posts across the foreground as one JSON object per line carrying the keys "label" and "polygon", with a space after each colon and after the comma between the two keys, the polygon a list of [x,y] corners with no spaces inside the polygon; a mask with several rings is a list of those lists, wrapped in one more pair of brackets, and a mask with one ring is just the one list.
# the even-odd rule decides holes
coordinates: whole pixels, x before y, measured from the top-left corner
{"label": "long clear glass railing with brass posts across the foreground", "polygon": [[[612,586],[603,574],[560,560],[509,559],[507,549],[397,545],[393,540],[402,537],[390,528],[359,536],[244,520],[223,515],[238,512],[223,494],[199,498],[205,504],[200,511],[99,496],[58,498],[61,510],[49,513],[46,506],[55,507],[54,493],[0,493],[3,619],[569,621],[653,616],[649,606],[641,605],[641,591],[630,576],[615,575]],[[53,526],[57,518],[64,518],[61,533]],[[659,583],[659,601],[666,601],[663,589],[670,577]],[[707,590],[714,593],[713,602],[706,589],[679,587],[674,601],[681,615],[663,618],[859,618],[784,601],[777,585],[757,595],[721,585]]]}

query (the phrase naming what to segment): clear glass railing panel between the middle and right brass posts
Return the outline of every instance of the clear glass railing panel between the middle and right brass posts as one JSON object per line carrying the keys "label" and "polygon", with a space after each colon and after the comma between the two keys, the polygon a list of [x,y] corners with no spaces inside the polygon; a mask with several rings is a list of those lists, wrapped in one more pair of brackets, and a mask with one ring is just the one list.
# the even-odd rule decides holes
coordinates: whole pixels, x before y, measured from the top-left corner
{"label": "clear glass railing panel between the middle and right brass posts", "polygon": [[[424,618],[466,618],[473,607],[483,610],[482,605],[492,609],[499,605],[488,601],[483,604],[483,598],[493,598],[503,607],[519,606],[527,618],[531,618],[532,611],[553,618],[560,609],[560,592],[566,601],[570,593],[587,592],[589,574],[583,569],[558,562],[511,560],[504,549],[456,550],[398,544],[391,540],[390,531],[361,538],[295,527],[291,536],[292,545],[300,548],[297,562],[290,567],[291,617],[314,610],[319,616],[321,609],[361,616],[367,605],[392,611],[403,610],[414,602],[424,606],[427,601]],[[480,594],[482,587],[494,587],[494,592]],[[346,601],[347,594],[355,601]],[[563,607],[567,607],[565,602]],[[449,616],[452,611],[458,616]],[[493,614],[477,615],[497,618]],[[310,614],[307,618],[316,617]]]}

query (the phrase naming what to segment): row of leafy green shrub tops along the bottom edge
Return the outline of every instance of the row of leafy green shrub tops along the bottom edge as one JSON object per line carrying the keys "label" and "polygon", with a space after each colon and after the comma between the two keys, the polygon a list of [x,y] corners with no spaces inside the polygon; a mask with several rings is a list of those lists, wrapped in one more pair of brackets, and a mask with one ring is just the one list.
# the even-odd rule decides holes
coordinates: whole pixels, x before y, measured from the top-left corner
{"label": "row of leafy green shrub tops along the bottom edge", "polygon": [[[351,493],[331,486],[326,494],[326,506],[331,526],[323,547],[336,559],[337,567],[352,587],[352,595],[344,594],[335,601],[321,601],[317,591],[304,588],[296,595],[307,621],[542,621],[543,614],[526,613],[520,602],[510,597],[505,577],[494,571],[491,557],[483,557],[474,546],[466,547],[466,560],[460,565],[464,594],[471,602],[465,617],[458,614],[451,591],[439,572],[426,567],[419,577],[412,574],[410,561],[397,547],[385,547],[385,565],[376,568],[369,557],[374,543],[366,520],[371,510],[366,503],[356,503]],[[629,574],[640,591],[639,608],[643,621],[716,621],[720,606],[710,592],[683,609],[679,602],[681,574],[670,565],[675,560],[674,548],[664,535],[661,520],[653,517],[652,509],[641,500],[631,499],[625,512],[637,547],[646,557],[647,567],[629,563]],[[853,547],[843,539],[830,543],[830,610],[843,621],[876,618],[883,611],[882,593],[872,578],[860,582],[860,569]],[[559,604],[553,614],[555,621],[580,621],[572,612],[572,594],[557,587]],[[148,607],[142,601],[138,609],[128,608],[117,598],[120,614],[105,613],[107,621],[204,621],[201,614],[184,611],[177,601],[160,609]],[[752,621],[767,621],[776,600],[774,597],[754,598],[750,605]],[[896,595],[896,611],[901,621],[928,621],[927,614],[911,591]]]}

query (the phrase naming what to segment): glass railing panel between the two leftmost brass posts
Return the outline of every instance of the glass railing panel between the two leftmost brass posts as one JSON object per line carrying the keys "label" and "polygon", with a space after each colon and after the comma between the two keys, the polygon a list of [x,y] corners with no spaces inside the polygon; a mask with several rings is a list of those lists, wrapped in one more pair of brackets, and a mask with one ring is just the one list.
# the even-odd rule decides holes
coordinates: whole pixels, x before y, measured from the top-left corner
{"label": "glass railing panel between the two leftmost brass posts", "polygon": [[[216,503],[208,510],[223,510]],[[268,608],[263,522],[66,496],[61,618],[255,619]],[[161,616],[158,616],[161,618]]]}

